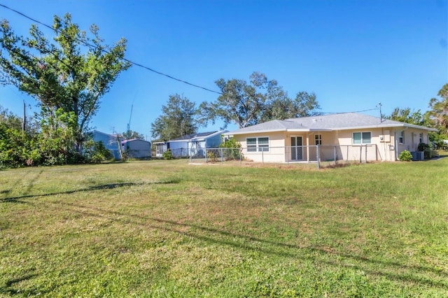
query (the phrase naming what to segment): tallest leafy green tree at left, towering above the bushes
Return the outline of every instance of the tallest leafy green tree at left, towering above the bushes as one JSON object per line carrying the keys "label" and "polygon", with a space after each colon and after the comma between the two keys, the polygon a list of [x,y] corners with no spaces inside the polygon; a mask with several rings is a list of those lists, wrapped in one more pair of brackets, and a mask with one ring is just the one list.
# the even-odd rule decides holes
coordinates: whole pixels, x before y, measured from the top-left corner
{"label": "tallest leafy green tree at left, towering above the bushes", "polygon": [[80,150],[84,134],[99,109],[100,99],[109,91],[125,62],[126,40],[104,45],[98,27],[90,27],[92,37],[71,22],[71,15],[54,17],[53,42],[36,25],[30,37],[18,36],[8,21],[0,24],[0,70],[8,83],[34,97],[41,117],[53,117],[60,108],[73,113],[75,146]]}

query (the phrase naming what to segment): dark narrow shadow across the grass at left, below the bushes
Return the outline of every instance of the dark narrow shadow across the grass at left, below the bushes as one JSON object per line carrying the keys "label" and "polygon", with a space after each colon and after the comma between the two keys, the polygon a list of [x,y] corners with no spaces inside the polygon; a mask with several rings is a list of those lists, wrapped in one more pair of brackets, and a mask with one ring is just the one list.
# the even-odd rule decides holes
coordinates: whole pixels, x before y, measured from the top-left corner
{"label": "dark narrow shadow across the grass at left, below the bushes", "polygon": [[[130,186],[136,186],[136,185],[153,185],[153,184],[174,184],[179,183],[179,179],[172,178],[172,179],[166,179],[166,180],[160,180],[160,181],[153,181],[153,182],[145,182],[145,183],[134,183],[134,182],[123,182],[123,183],[108,183],[108,184],[102,184],[102,185],[92,185],[85,188],[80,188],[78,190],[66,190],[64,192],[48,192],[46,194],[23,194],[21,196],[16,197],[6,197],[3,199],[0,199],[0,203],[19,203],[19,204],[29,204],[29,201],[22,201],[22,199],[28,199],[31,197],[50,197],[58,194],[74,194],[76,192],[92,192],[95,190],[112,190],[114,188],[119,187],[130,187]],[[32,186],[31,186],[32,187]],[[28,187],[27,192],[31,189],[31,187]],[[0,192],[0,194],[9,194],[10,190],[5,190],[3,192]]]}

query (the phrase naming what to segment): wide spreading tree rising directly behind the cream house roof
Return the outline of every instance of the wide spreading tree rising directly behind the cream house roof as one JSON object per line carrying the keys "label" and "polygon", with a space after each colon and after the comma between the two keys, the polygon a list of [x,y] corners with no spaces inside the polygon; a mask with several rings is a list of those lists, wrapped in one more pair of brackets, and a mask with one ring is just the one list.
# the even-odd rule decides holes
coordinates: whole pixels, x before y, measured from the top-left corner
{"label": "wide spreading tree rising directly behind the cream house roof", "polygon": [[235,123],[239,128],[260,122],[312,115],[319,108],[314,94],[300,92],[295,99],[278,85],[276,80],[268,80],[264,73],[254,72],[250,81],[216,80],[221,95],[214,102],[204,101],[200,104],[201,122],[217,119],[224,122],[224,127]]}

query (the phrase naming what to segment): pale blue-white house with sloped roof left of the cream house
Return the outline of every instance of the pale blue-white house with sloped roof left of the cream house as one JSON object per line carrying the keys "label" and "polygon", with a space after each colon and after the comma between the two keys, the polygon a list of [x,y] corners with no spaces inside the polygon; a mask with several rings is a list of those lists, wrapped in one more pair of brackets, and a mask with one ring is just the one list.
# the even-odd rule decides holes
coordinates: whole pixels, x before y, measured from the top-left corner
{"label": "pale blue-white house with sloped roof left of the cream house", "polygon": [[218,148],[223,141],[221,135],[225,132],[228,131],[200,132],[197,134],[187,134],[166,142],[156,142],[154,143],[155,156],[162,157],[163,152],[169,149],[174,157],[204,157],[204,149]]}

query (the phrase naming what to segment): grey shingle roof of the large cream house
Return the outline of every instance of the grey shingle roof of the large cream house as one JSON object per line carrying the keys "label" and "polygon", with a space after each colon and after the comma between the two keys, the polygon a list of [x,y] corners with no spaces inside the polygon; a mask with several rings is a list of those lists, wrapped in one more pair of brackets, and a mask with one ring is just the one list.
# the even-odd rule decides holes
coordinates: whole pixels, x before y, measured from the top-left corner
{"label": "grey shingle roof of the large cream house", "polygon": [[414,127],[435,131],[429,127],[411,125],[409,123],[380,119],[359,113],[339,113],[333,115],[318,115],[312,117],[291,118],[286,120],[271,120],[258,125],[244,127],[226,136],[235,134],[251,134],[260,132],[323,132],[345,129],[369,129],[378,127]]}

